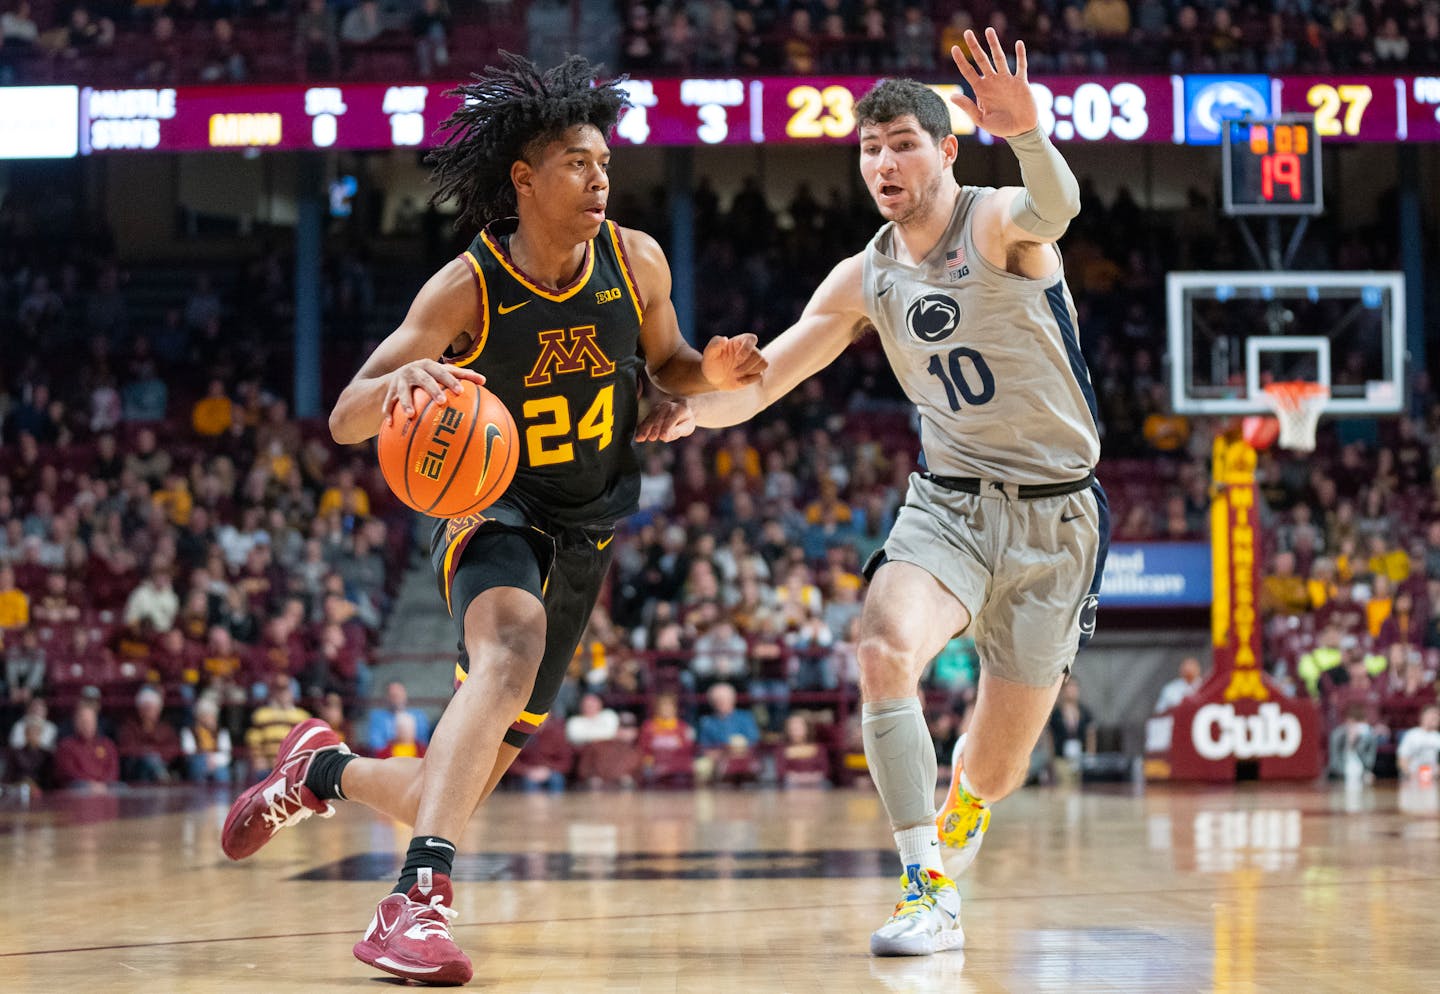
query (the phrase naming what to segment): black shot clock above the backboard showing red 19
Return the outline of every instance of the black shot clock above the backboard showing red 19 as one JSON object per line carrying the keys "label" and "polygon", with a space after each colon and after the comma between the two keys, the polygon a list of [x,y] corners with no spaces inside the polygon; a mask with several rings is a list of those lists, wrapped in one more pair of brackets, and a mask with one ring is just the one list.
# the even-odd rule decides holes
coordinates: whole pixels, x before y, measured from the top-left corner
{"label": "black shot clock above the backboard showing red 19", "polygon": [[1223,144],[1227,215],[1325,210],[1320,140],[1312,117],[1227,121]]}

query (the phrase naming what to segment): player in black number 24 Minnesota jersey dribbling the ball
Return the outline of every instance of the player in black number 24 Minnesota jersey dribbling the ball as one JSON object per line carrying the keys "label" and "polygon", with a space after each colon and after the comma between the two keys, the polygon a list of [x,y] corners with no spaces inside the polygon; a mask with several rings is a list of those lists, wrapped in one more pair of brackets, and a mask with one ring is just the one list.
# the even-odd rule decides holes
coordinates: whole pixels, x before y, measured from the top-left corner
{"label": "player in black number 24 Minnesota jersey dribbling the ball", "polygon": [[[507,56],[459,88],[446,144],[431,157],[435,200],[480,235],[420,290],[330,415],[337,442],[409,418],[419,389],[444,402],[487,383],[516,416],[520,465],[482,514],[436,521],[432,562],[459,635],[458,690],[423,759],[360,759],[328,725],[297,726],[274,774],[223,830],[232,859],[331,801],[415,825],[395,890],[356,957],[396,977],[456,984],[455,841],[546,719],[599,594],[615,521],[636,507],[641,367],[665,392],[759,379],[755,336],[680,337],[670,268],[648,235],[606,220],[613,128],[625,92],[580,58],[543,75]],[[516,215],[516,216],[511,216]],[[444,353],[444,360],[442,360]],[[647,435],[655,432],[647,431]]]}

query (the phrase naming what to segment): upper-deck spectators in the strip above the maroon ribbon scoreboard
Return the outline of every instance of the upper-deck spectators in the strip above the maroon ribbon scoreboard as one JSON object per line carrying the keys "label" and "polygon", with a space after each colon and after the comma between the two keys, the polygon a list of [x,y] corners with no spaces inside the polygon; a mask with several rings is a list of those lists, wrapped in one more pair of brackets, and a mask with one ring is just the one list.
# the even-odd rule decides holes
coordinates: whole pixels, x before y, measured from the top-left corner
{"label": "upper-deck spectators in the strip above the maroon ribbon scoreboard", "polygon": [[[1025,39],[1035,73],[1354,72],[1440,65],[1436,0],[1266,4],[1179,0],[6,0],[0,84],[86,76],[135,85],[428,78],[449,50],[490,59],[557,24],[616,24],[580,48],[636,73],[945,72],[965,32]],[[539,16],[554,9],[559,22]],[[505,30],[520,30],[518,36]],[[531,37],[549,50],[553,39]],[[393,73],[393,75],[392,75]]]}

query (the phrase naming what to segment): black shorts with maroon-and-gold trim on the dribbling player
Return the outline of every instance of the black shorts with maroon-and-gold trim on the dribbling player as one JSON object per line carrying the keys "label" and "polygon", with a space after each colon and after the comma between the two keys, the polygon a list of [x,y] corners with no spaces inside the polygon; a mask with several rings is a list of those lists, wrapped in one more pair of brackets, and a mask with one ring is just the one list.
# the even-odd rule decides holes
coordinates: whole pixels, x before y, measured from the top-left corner
{"label": "black shorts with maroon-and-gold trim on the dribbling player", "polygon": [[550,713],[566,670],[580,644],[590,611],[611,566],[612,527],[541,526],[517,504],[500,498],[482,514],[442,521],[431,543],[431,565],[455,624],[459,658],[455,689],[469,676],[465,611],[495,586],[533,594],[546,615],[544,655],[524,710],[505,732],[516,748],[534,735]]}

